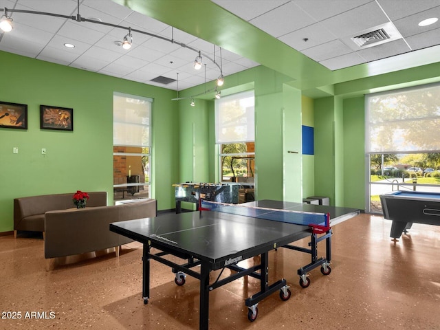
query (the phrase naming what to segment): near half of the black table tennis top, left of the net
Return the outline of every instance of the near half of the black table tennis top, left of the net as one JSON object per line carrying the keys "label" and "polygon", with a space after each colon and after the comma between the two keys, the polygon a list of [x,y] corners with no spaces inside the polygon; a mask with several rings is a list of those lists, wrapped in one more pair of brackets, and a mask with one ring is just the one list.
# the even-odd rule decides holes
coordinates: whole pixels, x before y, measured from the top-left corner
{"label": "near half of the black table tennis top, left of the net", "polygon": [[[273,208],[281,206],[279,203],[286,207],[292,206],[288,202],[267,200],[254,203]],[[167,213],[159,217],[120,221],[111,223],[110,230],[166,252],[194,256],[211,263],[212,269],[219,269],[228,261],[244,260],[310,235],[310,228],[306,225],[214,211]]]}

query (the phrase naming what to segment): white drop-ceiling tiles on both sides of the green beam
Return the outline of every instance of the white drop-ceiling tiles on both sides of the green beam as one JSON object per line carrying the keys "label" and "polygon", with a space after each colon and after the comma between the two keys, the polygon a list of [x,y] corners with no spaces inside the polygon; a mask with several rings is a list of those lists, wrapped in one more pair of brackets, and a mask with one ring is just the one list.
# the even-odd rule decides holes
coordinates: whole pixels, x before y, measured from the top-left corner
{"label": "white drop-ceiling tiles on both sides of the green beam", "polygon": [[[440,17],[439,0],[212,0],[212,3],[330,70],[384,61],[440,45],[440,21],[426,27],[418,25],[422,19]],[[3,8],[68,16],[76,16],[78,12],[77,0],[0,0],[0,9]],[[0,34],[0,50],[168,89],[177,89],[177,82],[163,85],[149,80],[157,76],[175,79],[180,72],[178,88],[185,89],[216,79],[220,73],[217,65],[224,76],[259,65],[224,49],[220,58],[218,46],[111,0],[80,0],[79,12],[85,19],[100,19],[123,28],[9,12],[14,19],[14,30]],[[353,47],[353,36],[384,23],[395,26],[401,38],[368,48]],[[128,27],[176,43],[133,31],[133,45],[130,50],[124,50],[115,42],[122,42]],[[67,49],[64,43],[76,47]],[[197,72],[193,69],[198,55],[194,50],[201,51],[206,72],[204,68]]]}

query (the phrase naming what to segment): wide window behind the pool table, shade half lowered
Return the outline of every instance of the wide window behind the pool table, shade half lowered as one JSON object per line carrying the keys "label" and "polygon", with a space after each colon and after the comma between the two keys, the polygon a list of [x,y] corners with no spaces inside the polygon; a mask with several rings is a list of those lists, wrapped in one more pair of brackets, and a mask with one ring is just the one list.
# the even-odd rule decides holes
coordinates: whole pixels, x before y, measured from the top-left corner
{"label": "wide window behind the pool table, shade half lowered", "polygon": [[391,190],[440,192],[440,85],[366,96],[369,212]]}

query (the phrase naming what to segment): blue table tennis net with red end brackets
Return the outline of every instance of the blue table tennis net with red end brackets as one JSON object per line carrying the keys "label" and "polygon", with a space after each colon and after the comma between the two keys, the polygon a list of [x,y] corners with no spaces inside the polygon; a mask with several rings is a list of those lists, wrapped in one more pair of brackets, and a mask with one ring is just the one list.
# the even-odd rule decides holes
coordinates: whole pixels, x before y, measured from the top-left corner
{"label": "blue table tennis net with red end brackets", "polygon": [[219,203],[216,201],[199,201],[200,211],[217,211],[230,214],[253,217],[258,219],[308,225],[315,234],[322,234],[330,230],[330,214],[285,210],[278,208],[262,208],[243,204]]}

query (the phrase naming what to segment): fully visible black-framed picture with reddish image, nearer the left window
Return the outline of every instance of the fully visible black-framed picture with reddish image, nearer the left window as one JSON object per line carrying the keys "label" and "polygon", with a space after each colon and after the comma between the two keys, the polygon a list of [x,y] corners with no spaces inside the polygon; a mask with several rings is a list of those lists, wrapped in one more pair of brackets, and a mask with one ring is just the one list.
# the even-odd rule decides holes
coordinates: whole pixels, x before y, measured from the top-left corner
{"label": "fully visible black-framed picture with reddish image, nearer the left window", "polygon": [[74,109],[40,105],[40,129],[74,130]]}

